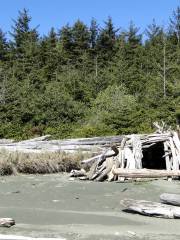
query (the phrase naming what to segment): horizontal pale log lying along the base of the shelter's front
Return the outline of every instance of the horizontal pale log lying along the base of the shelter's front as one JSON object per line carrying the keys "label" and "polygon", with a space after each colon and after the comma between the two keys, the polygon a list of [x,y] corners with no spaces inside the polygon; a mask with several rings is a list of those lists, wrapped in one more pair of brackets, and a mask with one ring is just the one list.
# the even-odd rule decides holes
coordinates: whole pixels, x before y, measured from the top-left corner
{"label": "horizontal pale log lying along the base of the shelter's front", "polygon": [[154,169],[113,169],[113,174],[127,178],[162,178],[179,177],[180,170],[154,170]]}

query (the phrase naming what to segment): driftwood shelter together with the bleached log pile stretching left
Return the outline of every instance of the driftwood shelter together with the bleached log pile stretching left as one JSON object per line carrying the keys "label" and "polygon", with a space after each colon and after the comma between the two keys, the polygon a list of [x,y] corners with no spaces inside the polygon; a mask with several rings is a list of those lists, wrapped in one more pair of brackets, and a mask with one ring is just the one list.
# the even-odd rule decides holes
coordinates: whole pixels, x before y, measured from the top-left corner
{"label": "driftwood shelter together with the bleached log pile stretching left", "polygon": [[0,150],[46,153],[91,153],[81,162],[81,170],[72,177],[96,181],[124,181],[129,178],[180,176],[180,139],[178,133],[164,123],[154,123],[153,134],[49,140],[42,136],[21,142],[0,140]]}

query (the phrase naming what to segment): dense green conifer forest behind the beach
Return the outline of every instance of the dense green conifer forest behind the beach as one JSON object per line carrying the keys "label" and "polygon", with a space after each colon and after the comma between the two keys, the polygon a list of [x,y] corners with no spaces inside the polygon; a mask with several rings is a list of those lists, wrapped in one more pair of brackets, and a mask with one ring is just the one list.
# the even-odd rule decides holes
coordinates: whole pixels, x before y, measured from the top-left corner
{"label": "dense green conifer forest behind the beach", "polygon": [[180,121],[180,7],[143,34],[111,17],[40,36],[24,9],[0,30],[0,138],[151,132]]}

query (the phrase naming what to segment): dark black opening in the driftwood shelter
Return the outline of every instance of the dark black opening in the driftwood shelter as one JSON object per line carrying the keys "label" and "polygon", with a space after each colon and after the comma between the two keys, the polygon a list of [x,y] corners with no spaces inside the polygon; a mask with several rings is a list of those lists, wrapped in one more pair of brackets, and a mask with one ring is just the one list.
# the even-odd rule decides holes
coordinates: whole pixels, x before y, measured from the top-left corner
{"label": "dark black opening in the driftwood shelter", "polygon": [[163,143],[155,145],[143,150],[142,167],[149,169],[166,169]]}

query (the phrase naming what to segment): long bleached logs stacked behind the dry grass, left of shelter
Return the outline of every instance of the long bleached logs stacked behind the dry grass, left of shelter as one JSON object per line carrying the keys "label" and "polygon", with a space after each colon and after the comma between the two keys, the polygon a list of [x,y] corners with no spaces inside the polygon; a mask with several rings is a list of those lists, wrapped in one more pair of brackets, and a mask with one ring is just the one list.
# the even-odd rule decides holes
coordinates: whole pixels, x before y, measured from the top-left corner
{"label": "long bleached logs stacked behind the dry grass, left of shelter", "polygon": [[47,140],[50,135],[20,141],[6,143],[0,142],[0,150],[17,151],[26,153],[42,153],[42,152],[93,152],[102,154],[112,144],[120,143],[122,136],[111,137],[94,137],[94,138],[77,138],[66,140]]}

